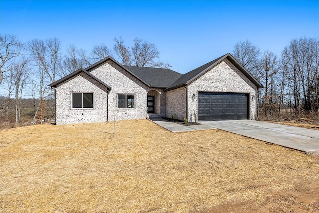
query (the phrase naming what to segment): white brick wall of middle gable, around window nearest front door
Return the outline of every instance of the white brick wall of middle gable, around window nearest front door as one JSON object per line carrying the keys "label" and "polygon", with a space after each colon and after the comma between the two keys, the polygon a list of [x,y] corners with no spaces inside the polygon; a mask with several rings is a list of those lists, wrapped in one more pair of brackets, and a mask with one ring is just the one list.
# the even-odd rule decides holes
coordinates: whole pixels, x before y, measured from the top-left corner
{"label": "white brick wall of middle gable, around window nearest front door", "polygon": [[[146,96],[149,90],[146,85],[112,61],[101,64],[91,74],[111,87],[108,93],[109,121],[146,118]],[[117,108],[117,94],[134,94],[135,108]]]}

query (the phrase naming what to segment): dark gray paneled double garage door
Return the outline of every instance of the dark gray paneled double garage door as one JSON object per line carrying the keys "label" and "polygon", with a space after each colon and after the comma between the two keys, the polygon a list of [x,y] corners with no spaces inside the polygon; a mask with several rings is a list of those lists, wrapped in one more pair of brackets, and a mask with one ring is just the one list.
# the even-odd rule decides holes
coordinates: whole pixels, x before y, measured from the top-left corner
{"label": "dark gray paneled double garage door", "polygon": [[247,119],[248,101],[245,93],[198,92],[198,121]]}

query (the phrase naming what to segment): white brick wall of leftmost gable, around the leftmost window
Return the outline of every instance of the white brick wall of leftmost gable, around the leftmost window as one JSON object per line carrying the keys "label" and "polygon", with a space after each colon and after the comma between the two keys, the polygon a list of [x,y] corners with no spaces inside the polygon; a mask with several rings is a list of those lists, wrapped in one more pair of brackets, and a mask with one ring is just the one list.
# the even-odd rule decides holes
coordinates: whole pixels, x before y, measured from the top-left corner
{"label": "white brick wall of leftmost gable, around the leftmost window", "polygon": [[[58,85],[56,91],[56,124],[95,123],[107,121],[107,88],[85,73]],[[72,92],[93,92],[93,108],[72,109]]]}

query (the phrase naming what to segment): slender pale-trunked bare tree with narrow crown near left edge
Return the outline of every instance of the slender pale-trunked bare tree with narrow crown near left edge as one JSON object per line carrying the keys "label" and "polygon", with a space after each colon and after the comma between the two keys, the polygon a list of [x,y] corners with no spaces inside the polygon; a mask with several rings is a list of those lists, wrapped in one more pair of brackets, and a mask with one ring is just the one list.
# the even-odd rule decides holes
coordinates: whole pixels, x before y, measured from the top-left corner
{"label": "slender pale-trunked bare tree with narrow crown near left edge", "polygon": [[30,68],[28,60],[22,57],[15,63],[12,69],[12,81],[14,84],[14,97],[15,97],[15,123],[20,125],[21,117],[21,100],[23,95],[23,89],[25,88],[27,81],[30,77]]}

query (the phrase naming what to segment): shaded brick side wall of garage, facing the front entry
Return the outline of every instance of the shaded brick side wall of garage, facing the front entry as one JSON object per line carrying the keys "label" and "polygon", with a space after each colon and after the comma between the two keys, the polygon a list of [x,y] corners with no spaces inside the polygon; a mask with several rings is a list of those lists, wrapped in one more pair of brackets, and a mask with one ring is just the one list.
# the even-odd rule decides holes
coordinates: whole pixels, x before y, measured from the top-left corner
{"label": "shaded brick side wall of garage, facing the front entry", "polygon": [[166,116],[184,120],[186,117],[186,88],[180,87],[166,92]]}

